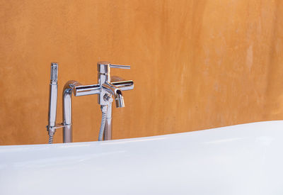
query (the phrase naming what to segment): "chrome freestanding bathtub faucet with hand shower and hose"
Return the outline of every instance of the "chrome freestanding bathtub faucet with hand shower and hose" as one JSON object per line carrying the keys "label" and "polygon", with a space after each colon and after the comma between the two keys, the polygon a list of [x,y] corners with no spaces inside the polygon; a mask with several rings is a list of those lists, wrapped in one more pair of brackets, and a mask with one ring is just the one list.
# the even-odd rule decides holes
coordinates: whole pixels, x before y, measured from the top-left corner
{"label": "chrome freestanding bathtub faucet with hand shower and hose", "polygon": [[109,62],[98,62],[98,84],[82,85],[70,80],[63,88],[63,123],[56,124],[57,111],[57,77],[58,64],[51,63],[50,101],[47,131],[49,143],[53,143],[53,136],[57,128],[63,128],[63,143],[72,142],[71,127],[71,94],[74,96],[87,96],[98,94],[98,104],[102,111],[102,120],[98,140],[111,140],[112,138],[112,96],[117,108],[125,106],[122,91],[134,89],[132,80],[125,81],[120,77],[111,77],[110,68],[129,69],[130,66],[111,65]]}

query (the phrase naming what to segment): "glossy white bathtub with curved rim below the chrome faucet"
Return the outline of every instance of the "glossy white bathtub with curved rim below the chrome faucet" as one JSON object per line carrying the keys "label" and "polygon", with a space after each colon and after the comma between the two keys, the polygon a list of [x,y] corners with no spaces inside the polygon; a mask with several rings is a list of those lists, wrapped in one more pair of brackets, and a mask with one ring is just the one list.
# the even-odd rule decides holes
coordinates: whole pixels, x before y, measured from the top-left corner
{"label": "glossy white bathtub with curved rim below the chrome faucet", "polygon": [[0,147],[0,194],[283,194],[283,121]]}

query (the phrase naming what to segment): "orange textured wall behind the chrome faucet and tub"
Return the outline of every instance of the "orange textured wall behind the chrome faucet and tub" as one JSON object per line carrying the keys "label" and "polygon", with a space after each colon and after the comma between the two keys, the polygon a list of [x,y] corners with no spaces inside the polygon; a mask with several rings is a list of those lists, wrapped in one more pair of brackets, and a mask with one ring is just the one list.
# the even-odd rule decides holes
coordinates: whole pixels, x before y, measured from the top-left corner
{"label": "orange textured wall behind the chrome faucet and tub", "polygon": [[[135,82],[115,139],[283,118],[281,0],[2,0],[0,21],[0,145],[47,143],[50,62],[58,123],[65,82],[96,83],[100,60],[132,65],[112,71]],[[97,96],[73,100],[74,141],[97,140]]]}

